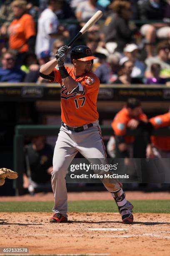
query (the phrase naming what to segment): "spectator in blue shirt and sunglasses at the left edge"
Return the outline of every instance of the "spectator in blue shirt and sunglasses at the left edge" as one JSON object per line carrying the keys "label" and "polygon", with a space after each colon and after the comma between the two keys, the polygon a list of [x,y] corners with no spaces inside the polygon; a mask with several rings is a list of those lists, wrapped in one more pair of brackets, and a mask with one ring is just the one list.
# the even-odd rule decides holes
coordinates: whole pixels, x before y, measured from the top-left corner
{"label": "spectator in blue shirt and sunglasses at the left edge", "polygon": [[23,82],[25,72],[15,66],[15,54],[13,51],[6,51],[2,54],[0,67],[0,82]]}

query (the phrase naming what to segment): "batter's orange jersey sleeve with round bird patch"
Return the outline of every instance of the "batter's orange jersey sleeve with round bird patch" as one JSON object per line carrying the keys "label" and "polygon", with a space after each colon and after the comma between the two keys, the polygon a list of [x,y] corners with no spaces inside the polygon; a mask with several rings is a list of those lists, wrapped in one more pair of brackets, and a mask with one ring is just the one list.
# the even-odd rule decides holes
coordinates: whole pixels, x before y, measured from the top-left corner
{"label": "batter's orange jersey sleeve with round bird patch", "polygon": [[99,90],[100,80],[95,74],[90,74],[90,76],[85,76],[79,83],[85,90],[85,94],[94,93]]}

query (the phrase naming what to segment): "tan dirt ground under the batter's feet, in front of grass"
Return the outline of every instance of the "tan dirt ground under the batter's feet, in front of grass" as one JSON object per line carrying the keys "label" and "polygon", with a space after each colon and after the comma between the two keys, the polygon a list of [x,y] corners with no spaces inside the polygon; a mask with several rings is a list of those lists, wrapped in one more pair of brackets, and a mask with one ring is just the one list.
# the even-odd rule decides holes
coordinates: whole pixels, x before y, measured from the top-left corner
{"label": "tan dirt ground under the batter's feet, in front of grass", "polygon": [[69,222],[60,224],[49,223],[50,216],[1,212],[0,247],[28,247],[31,255],[170,255],[168,214],[135,213],[133,225],[122,224],[118,213],[70,212]]}

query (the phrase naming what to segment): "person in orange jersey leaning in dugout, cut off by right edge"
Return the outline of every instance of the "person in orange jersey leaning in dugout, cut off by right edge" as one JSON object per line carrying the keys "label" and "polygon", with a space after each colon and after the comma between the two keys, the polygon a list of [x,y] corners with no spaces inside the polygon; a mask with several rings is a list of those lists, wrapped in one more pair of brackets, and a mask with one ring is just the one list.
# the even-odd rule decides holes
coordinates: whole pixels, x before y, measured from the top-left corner
{"label": "person in orange jersey leaning in dugout, cut off by right edge", "polygon": [[[170,126],[170,110],[168,113],[150,118],[149,121],[154,129]],[[170,136],[151,136],[151,141],[156,157],[170,158]]]}

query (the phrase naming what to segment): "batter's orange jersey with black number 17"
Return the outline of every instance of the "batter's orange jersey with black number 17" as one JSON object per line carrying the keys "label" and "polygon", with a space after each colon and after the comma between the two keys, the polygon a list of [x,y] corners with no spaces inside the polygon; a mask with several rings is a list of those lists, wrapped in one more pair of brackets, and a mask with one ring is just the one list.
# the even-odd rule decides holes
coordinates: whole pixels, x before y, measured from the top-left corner
{"label": "batter's orange jersey with black number 17", "polygon": [[82,77],[75,77],[74,68],[68,68],[68,74],[79,82],[84,92],[81,95],[69,94],[64,86],[60,72],[57,68],[54,69],[54,82],[61,84],[61,119],[68,126],[82,126],[87,123],[92,123],[98,120],[97,112],[97,95],[100,86],[98,77],[88,72]]}

